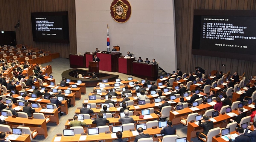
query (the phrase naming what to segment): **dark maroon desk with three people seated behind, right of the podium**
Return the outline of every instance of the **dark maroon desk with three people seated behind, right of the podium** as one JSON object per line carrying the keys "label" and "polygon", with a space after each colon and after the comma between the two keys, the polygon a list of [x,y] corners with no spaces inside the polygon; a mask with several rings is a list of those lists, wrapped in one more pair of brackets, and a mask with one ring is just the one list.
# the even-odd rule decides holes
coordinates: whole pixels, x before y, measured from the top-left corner
{"label": "dark maroon desk with three people seated behind, right of the podium", "polygon": [[158,65],[132,63],[132,75],[139,78],[148,78],[148,80],[157,80]]}

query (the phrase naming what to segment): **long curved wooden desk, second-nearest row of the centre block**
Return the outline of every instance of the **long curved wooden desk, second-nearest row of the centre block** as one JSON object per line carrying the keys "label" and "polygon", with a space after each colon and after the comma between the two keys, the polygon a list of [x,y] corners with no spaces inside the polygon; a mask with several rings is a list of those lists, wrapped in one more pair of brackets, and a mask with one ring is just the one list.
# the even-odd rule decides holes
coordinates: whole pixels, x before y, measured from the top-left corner
{"label": "long curved wooden desk, second-nearest row of the centre block", "polygon": [[[152,120],[158,120],[158,116],[156,114],[150,114],[151,115],[151,118],[143,118],[143,119],[140,119],[139,116],[136,116],[136,115],[132,115],[131,117],[133,118],[134,121],[136,121],[136,123],[139,123],[138,121],[152,121]],[[120,118],[114,118],[114,117],[111,117],[111,118],[107,118],[107,120],[109,121],[108,124],[111,124],[111,126],[119,126],[120,125],[120,122],[118,121]],[[91,119],[85,119],[83,122],[86,123],[86,125],[88,125],[89,127],[96,127],[96,124],[93,124],[94,120],[91,120]],[[70,126],[69,126],[69,122],[70,121],[67,121],[65,123],[65,128],[66,129],[69,129]],[[113,124],[113,125],[112,125]]]}

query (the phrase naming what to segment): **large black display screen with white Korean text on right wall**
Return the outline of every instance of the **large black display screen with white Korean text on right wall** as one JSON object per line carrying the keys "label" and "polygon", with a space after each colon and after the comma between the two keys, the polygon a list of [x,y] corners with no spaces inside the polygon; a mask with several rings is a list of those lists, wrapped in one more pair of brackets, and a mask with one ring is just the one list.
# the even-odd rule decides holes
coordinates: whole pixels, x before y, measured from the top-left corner
{"label": "large black display screen with white Korean text on right wall", "polygon": [[192,54],[256,59],[256,12],[194,10]]}

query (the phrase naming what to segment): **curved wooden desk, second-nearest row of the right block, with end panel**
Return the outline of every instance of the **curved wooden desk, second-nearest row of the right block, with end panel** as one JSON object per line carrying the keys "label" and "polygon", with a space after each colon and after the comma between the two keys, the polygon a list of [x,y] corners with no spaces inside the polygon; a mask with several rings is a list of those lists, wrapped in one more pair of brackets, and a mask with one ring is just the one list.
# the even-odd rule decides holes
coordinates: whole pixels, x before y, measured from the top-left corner
{"label": "curved wooden desk, second-nearest row of the right block, with end panel", "polygon": [[[250,108],[249,106],[243,106],[243,108],[248,109],[248,111],[255,110],[255,108],[253,109],[253,108]],[[233,110],[232,112],[238,115],[237,110]],[[214,125],[215,128],[216,127],[220,127],[220,128],[226,127],[230,118],[233,118],[233,117],[230,117],[227,114],[223,114],[223,115],[219,114],[218,117],[214,117],[216,122],[213,122],[213,125]],[[225,121],[225,122],[223,122],[223,121]],[[188,122],[188,125],[187,125],[187,141],[190,142],[191,138],[196,137],[196,132],[203,132],[203,127],[200,127],[195,123]]]}

